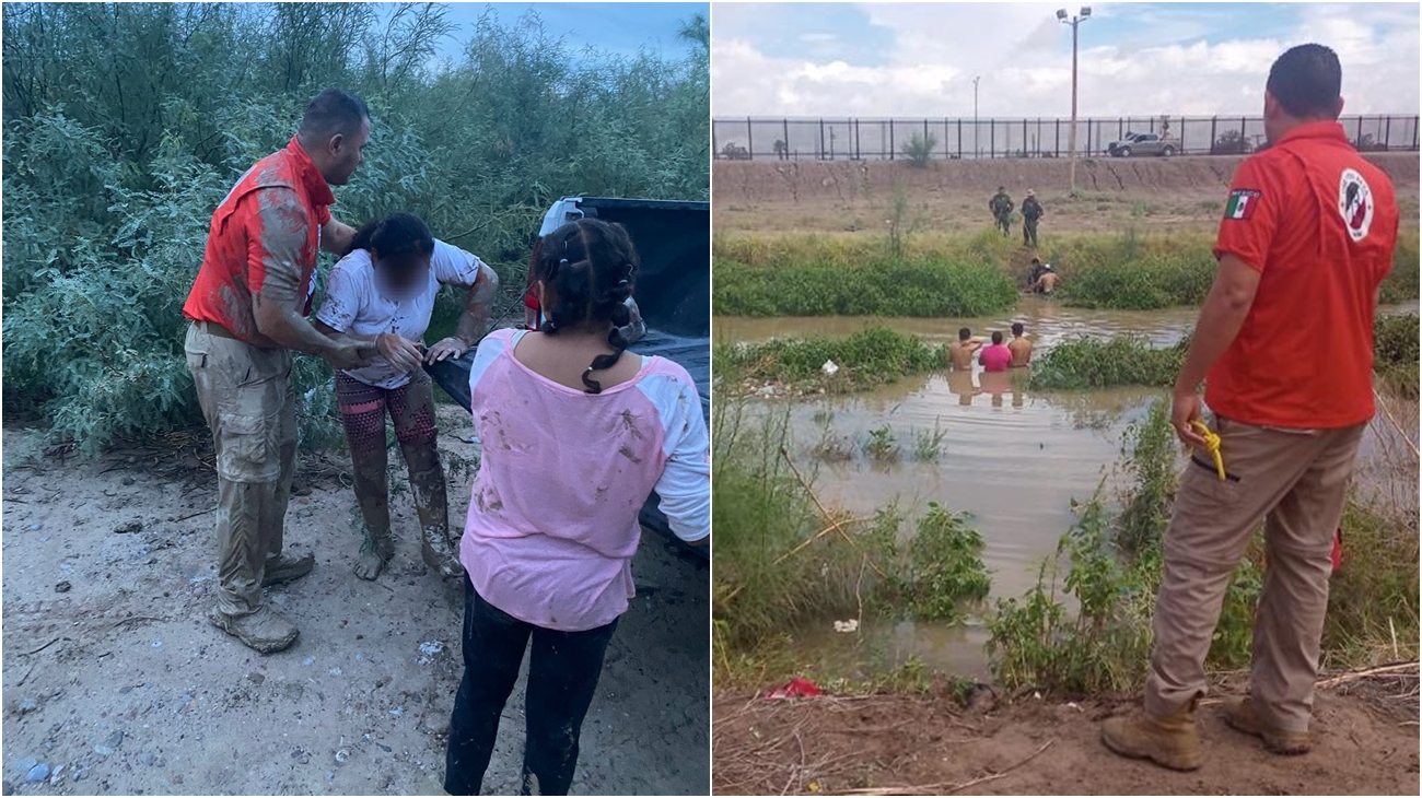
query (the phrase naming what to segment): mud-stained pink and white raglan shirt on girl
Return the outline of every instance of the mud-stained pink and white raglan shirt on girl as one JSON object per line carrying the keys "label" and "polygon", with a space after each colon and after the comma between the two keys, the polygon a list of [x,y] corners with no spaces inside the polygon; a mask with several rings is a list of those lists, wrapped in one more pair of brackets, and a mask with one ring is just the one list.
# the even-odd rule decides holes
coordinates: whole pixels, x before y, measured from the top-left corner
{"label": "mud-stained pink and white raglan shirt on girl", "polygon": [[459,561],[493,606],[583,632],[611,623],[636,595],[637,513],[653,488],[677,537],[710,534],[710,437],[680,365],[641,358],[636,378],[586,393],[519,362],[523,335],[489,334],[469,371],[483,453]]}

